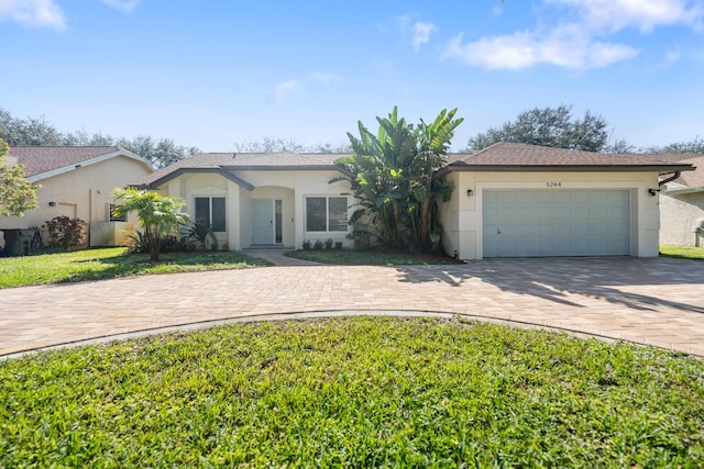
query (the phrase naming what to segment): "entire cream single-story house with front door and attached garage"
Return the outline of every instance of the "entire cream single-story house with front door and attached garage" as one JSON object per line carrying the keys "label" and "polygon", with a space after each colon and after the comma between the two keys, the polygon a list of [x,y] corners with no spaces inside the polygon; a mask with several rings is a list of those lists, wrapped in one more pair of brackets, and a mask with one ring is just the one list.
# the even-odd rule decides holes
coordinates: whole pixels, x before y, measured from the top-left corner
{"label": "entire cream single-story house with front door and attached garage", "polygon": [[[140,187],[186,200],[220,245],[351,246],[349,175],[319,154],[199,154],[146,176]],[[499,143],[450,155],[438,178],[443,247],[461,259],[658,255],[658,178],[691,164]]]}

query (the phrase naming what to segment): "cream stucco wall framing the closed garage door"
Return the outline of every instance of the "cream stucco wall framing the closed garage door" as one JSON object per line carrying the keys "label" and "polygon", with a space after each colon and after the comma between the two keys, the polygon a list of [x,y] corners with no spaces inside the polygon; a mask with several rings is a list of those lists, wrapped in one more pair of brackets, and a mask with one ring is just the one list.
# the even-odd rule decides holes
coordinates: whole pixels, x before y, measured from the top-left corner
{"label": "cream stucco wall framing the closed garage door", "polygon": [[[657,172],[504,172],[455,171],[446,180],[453,187],[449,202],[441,206],[443,247],[461,259],[483,258],[482,203],[486,189],[548,189],[549,183],[569,189],[627,189],[630,193],[631,255],[658,255],[658,199],[648,188],[658,187]],[[472,190],[472,196],[468,196]]]}

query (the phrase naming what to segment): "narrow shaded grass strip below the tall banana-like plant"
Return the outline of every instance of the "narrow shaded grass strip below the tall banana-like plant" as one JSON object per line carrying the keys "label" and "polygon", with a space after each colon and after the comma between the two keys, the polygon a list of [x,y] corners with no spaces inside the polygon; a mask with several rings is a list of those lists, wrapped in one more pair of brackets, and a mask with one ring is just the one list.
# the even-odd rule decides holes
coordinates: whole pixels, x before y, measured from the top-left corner
{"label": "narrow shaded grass strip below the tall banana-like plant", "polygon": [[448,256],[387,253],[380,250],[305,249],[286,253],[286,256],[322,264],[348,266],[406,266],[458,263],[457,259]]}

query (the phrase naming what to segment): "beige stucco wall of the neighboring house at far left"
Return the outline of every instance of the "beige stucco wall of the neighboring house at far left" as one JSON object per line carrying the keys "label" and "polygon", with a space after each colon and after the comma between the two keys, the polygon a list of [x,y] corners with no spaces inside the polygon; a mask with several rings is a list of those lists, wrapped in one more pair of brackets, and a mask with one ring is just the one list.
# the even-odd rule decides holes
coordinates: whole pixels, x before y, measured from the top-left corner
{"label": "beige stucco wall of the neighboring house at far left", "polygon": [[1,217],[0,230],[42,226],[55,216],[66,215],[86,222],[90,246],[119,245],[122,230],[131,228],[136,219],[130,215],[129,223],[109,222],[112,191],[150,172],[147,166],[133,158],[116,156],[41,179],[37,182],[42,187],[36,191],[38,208],[24,216]]}

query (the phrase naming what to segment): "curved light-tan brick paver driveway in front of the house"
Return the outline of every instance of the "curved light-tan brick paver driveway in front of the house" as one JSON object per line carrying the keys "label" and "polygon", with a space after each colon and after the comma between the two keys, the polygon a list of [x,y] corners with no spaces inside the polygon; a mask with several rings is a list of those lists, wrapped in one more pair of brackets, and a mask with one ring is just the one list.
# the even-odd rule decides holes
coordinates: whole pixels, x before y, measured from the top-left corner
{"label": "curved light-tan brick paver driveway in front of the house", "polygon": [[0,355],[136,331],[301,312],[442,312],[704,356],[704,263],[481,260],[280,266],[0,290]]}

